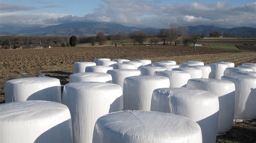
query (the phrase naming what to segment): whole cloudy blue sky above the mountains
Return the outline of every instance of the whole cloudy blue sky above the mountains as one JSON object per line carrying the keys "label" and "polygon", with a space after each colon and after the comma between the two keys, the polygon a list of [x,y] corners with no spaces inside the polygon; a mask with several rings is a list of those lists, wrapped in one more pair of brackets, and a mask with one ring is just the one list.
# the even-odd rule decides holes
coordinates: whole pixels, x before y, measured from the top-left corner
{"label": "whole cloudy blue sky above the mountains", "polygon": [[97,21],[140,28],[256,28],[256,0],[0,0],[0,13],[0,27]]}

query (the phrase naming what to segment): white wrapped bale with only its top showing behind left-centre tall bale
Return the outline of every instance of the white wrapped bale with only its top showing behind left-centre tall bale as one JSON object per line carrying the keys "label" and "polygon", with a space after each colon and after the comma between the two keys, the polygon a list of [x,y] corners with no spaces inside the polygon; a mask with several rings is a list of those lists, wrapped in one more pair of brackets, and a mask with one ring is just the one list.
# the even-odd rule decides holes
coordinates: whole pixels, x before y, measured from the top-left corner
{"label": "white wrapped bale with only its top showing behind left-centre tall bale", "polygon": [[73,82],[106,82],[112,83],[112,76],[107,73],[85,72],[76,73],[69,76],[69,83]]}

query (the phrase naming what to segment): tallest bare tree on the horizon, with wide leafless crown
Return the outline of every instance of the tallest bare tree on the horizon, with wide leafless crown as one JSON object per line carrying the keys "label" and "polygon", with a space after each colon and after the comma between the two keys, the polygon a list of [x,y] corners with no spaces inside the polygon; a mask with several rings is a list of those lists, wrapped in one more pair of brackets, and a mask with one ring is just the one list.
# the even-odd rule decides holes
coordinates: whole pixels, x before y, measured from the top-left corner
{"label": "tallest bare tree on the horizon, with wide leafless crown", "polygon": [[185,35],[188,32],[187,27],[181,27],[178,23],[171,23],[170,24],[171,28],[171,36],[173,37],[175,45],[178,43],[178,37],[181,35]]}

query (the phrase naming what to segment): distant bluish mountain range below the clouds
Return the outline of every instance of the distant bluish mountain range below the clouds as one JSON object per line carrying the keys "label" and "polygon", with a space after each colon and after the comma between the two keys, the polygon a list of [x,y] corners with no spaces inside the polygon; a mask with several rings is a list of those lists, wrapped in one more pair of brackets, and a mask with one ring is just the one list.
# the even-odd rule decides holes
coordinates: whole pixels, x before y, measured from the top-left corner
{"label": "distant bluish mountain range below the clouds", "polygon": [[[256,28],[238,27],[238,28],[219,28],[215,26],[187,26],[189,34],[209,35],[211,31],[218,31],[227,37],[245,37],[245,33],[249,38],[256,38]],[[0,35],[30,35],[30,36],[92,36],[103,31],[106,35],[114,35],[123,31],[126,34],[133,31],[145,31],[148,34],[155,35],[160,29],[154,28],[136,28],[116,23],[105,22],[76,22],[63,23],[59,25],[42,27],[1,27]]]}

